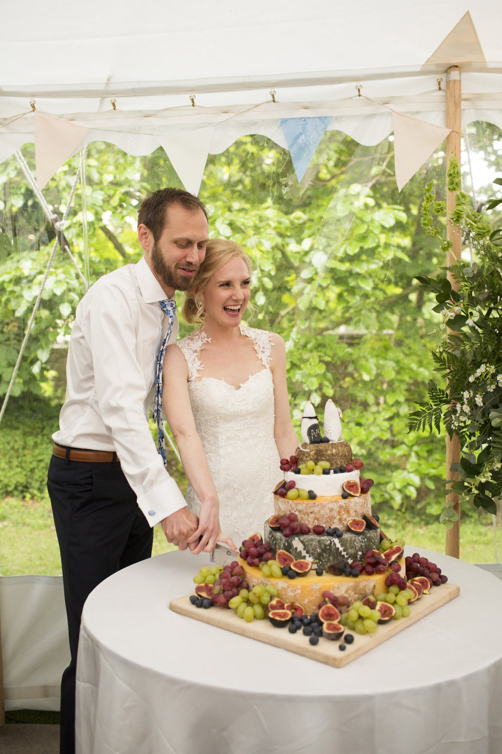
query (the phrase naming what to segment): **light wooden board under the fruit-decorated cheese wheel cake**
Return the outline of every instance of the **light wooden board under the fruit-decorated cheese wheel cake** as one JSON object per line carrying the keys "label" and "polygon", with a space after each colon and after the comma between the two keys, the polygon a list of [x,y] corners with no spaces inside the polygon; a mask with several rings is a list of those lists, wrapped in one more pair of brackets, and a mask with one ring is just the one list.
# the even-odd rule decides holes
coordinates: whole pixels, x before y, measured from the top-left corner
{"label": "light wooden board under the fruit-decorated cheese wheel cake", "polygon": [[186,615],[187,618],[195,618],[196,621],[224,628],[227,631],[239,633],[241,636],[248,636],[249,639],[257,639],[259,642],[287,649],[296,654],[303,654],[304,657],[310,657],[312,660],[324,662],[333,667],[343,667],[357,657],[361,657],[361,654],[365,654],[373,647],[391,639],[391,636],[395,636],[400,631],[420,621],[421,618],[434,612],[437,608],[446,605],[446,602],[455,599],[459,592],[460,587],[448,582],[440,587],[431,587],[430,594],[424,594],[420,599],[409,604],[410,614],[408,618],[399,618],[397,621],[391,619],[387,624],[379,624],[375,633],[366,633],[363,636],[355,631],[346,630],[346,633],[353,634],[354,642],[347,644],[345,651],[339,650],[343,636],[342,639],[337,641],[330,641],[330,639],[321,636],[319,643],[312,645],[309,643],[309,637],[304,636],[301,629],[297,633],[289,633],[287,627],[275,628],[266,618],[262,621],[254,620],[251,623],[246,623],[230,608],[217,606],[206,609],[196,608],[190,602],[189,594],[173,599],[169,603],[169,608],[180,613],[180,615]]}

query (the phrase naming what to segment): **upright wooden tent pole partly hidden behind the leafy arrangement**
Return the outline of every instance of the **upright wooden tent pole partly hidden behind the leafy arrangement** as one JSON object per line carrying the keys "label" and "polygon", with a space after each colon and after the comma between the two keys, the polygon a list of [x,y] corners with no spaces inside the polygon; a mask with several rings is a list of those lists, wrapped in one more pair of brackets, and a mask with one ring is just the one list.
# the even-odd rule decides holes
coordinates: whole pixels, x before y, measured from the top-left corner
{"label": "upright wooden tent pole partly hidden behind the leafy arrangement", "polygon": [[[450,159],[455,157],[458,164],[461,164],[461,71],[458,66],[452,66],[446,72],[446,127],[451,128],[446,138],[446,165],[449,167]],[[446,209],[450,215],[455,209],[455,193],[446,190]],[[462,238],[458,228],[452,223],[447,225],[447,238],[452,241],[452,248],[446,255],[446,265],[450,267],[457,259],[461,258]],[[458,290],[458,283],[452,279],[448,273],[448,279],[452,287]],[[452,464],[460,461],[460,442],[454,435],[450,440],[446,437],[446,479],[458,479],[458,474],[452,477],[450,468]],[[447,495],[449,504],[453,506],[458,513],[458,521],[455,521],[452,529],[446,529],[446,555],[455,558],[460,557],[460,501],[456,492],[449,492]]]}

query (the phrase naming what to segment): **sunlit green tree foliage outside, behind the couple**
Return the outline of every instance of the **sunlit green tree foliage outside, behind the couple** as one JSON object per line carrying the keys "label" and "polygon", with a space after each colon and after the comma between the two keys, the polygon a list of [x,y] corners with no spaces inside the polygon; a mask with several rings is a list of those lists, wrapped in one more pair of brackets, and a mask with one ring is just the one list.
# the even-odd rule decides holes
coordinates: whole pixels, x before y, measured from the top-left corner
{"label": "sunlit green tree foliage outside, behind the couple", "polygon": [[[23,154],[33,167],[30,148]],[[344,412],[346,439],[366,459],[364,474],[377,482],[376,510],[406,515],[439,513],[444,498],[444,437],[406,432],[409,412],[434,376],[430,333],[440,318],[434,297],[414,277],[434,276],[444,263],[420,224],[425,182],[444,184],[443,157],[438,152],[399,194],[391,139],[364,147],[327,131],[298,182],[288,152],[262,136],[245,136],[209,155],[199,192],[211,235],[233,238],[253,260],[257,313],[249,323],[286,341],[294,421],[306,400],[322,416],[333,397]],[[58,216],[78,164],[78,157],[68,161],[44,190]],[[0,175],[5,394],[54,234],[14,158]],[[90,146],[65,227],[90,283],[139,259],[138,203],[166,185],[181,182],[163,150],[135,158],[111,145]],[[16,410],[28,394],[62,401],[62,346],[84,292],[74,265],[58,251],[17,379]],[[182,335],[189,329],[181,323]]]}

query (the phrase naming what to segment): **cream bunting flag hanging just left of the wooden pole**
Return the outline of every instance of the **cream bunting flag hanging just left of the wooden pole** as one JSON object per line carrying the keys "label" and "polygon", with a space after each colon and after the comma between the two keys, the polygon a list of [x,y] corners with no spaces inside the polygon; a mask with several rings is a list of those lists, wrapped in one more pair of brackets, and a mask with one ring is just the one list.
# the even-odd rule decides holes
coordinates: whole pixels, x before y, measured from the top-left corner
{"label": "cream bunting flag hanging just left of the wooden pole", "polygon": [[437,149],[446,139],[451,128],[434,126],[394,110],[392,117],[394,119],[394,169],[397,188],[401,190],[427,158],[431,157],[434,149]]}

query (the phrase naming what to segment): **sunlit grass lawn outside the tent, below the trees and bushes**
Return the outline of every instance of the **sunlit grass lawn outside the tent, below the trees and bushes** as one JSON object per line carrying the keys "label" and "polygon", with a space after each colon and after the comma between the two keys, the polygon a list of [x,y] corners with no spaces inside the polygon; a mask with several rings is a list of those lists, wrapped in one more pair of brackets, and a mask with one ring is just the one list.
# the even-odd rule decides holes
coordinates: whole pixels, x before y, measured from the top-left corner
{"label": "sunlit grass lawn outside the tent, below the trees and bushes", "polygon": [[[488,513],[479,520],[466,520],[461,526],[461,559],[472,563],[495,562],[494,533],[492,516]],[[403,524],[401,521],[382,521],[386,535],[402,537],[406,544],[412,544],[419,551],[445,551],[445,529],[437,521]],[[499,557],[500,526],[498,528]],[[160,526],[154,529],[154,555],[175,550],[166,542]],[[194,568],[194,572],[196,569]],[[0,501],[0,575],[39,574],[60,576],[59,548],[50,502],[23,501],[5,498]]]}

